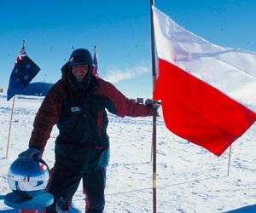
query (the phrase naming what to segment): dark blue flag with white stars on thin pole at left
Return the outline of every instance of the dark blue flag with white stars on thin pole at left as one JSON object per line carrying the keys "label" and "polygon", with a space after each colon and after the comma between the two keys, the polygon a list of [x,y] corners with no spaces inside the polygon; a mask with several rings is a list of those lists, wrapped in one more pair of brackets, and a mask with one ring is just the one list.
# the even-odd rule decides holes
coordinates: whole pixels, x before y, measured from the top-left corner
{"label": "dark blue flag with white stars on thin pole at left", "polygon": [[40,68],[26,55],[25,47],[23,46],[18,55],[15,67],[9,78],[9,87],[7,90],[7,101],[14,95],[26,88],[26,85],[32,81]]}

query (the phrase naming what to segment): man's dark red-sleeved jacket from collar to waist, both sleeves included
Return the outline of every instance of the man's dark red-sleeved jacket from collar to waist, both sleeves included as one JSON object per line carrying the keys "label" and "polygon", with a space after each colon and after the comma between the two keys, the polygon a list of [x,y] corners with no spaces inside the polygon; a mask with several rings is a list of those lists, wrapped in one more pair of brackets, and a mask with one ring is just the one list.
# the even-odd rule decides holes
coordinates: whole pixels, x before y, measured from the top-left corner
{"label": "man's dark red-sleeved jacket from collar to waist, both sleeves included", "polygon": [[65,144],[81,144],[88,141],[108,141],[108,112],[119,117],[145,117],[153,115],[153,109],[131,101],[112,83],[91,77],[87,89],[79,90],[71,79],[71,72],[62,69],[62,78],[46,95],[34,120],[30,147],[44,152],[50,132],[57,124],[60,134],[57,141]]}

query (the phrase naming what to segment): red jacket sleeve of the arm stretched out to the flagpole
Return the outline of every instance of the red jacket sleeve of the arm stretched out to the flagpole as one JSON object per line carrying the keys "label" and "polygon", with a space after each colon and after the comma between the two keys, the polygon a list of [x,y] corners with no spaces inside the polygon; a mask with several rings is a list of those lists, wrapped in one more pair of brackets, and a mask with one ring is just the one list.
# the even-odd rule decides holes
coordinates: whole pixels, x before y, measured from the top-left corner
{"label": "red jacket sleeve of the arm stretched out to the flagpole", "polygon": [[154,110],[151,107],[126,98],[125,95],[123,95],[111,83],[108,83],[107,88],[104,90],[107,93],[108,112],[116,114],[119,117],[146,117],[152,116],[154,113]]}

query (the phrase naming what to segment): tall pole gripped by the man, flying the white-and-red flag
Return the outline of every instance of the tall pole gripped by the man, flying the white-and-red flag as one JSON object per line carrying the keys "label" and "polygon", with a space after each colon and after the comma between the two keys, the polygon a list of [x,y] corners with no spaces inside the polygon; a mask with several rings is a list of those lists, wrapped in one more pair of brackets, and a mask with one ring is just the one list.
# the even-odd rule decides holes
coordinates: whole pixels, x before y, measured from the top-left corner
{"label": "tall pole gripped by the man, flying the white-and-red flag", "polygon": [[[150,0],[152,79],[153,79],[153,91],[154,91],[156,72],[155,72],[154,22],[153,22],[152,6],[154,6],[154,0]],[[153,100],[153,103],[155,102],[156,101]],[[156,213],[156,111],[154,112],[154,115],[153,115],[152,147],[153,147],[153,213]]]}

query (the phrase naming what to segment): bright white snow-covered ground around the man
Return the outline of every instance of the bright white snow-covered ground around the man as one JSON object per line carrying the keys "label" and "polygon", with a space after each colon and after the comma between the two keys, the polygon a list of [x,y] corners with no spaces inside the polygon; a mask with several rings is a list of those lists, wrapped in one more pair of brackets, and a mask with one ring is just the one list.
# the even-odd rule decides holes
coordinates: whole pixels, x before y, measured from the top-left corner
{"label": "bright white snow-covered ground around the man", "polygon": [[[15,101],[13,126],[6,147],[12,101],[0,96],[0,211],[18,212],[3,203],[10,193],[9,165],[26,150],[32,122],[42,99]],[[152,163],[150,163],[152,118],[118,118],[109,114],[111,157],[108,165],[105,212],[152,212]],[[53,166],[54,128],[44,152]],[[162,117],[157,124],[157,212],[225,212],[256,203],[256,127],[232,145],[221,157],[173,135]],[[79,186],[71,212],[84,212],[84,194]],[[235,212],[235,211],[234,211]],[[256,208],[250,211],[256,212]]]}

